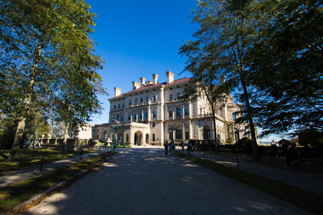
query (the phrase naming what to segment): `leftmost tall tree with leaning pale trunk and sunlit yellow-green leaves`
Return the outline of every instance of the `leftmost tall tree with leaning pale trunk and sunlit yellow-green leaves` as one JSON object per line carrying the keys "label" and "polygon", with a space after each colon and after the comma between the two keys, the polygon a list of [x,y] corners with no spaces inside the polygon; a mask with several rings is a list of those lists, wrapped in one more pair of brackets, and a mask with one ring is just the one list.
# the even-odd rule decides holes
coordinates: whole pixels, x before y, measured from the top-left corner
{"label": "leftmost tall tree with leaning pale trunk and sunlit yellow-green leaves", "polygon": [[[82,44],[88,52],[93,50],[95,14],[82,0],[13,0],[0,2],[0,63],[4,80],[11,83],[15,105],[12,110],[18,116],[14,144],[8,160],[18,160],[26,116],[31,106],[47,94],[53,94],[52,86],[69,78],[66,65],[75,63],[73,48]],[[90,45],[90,46],[86,46]],[[81,57],[80,52],[77,56]],[[89,65],[89,70],[100,68]],[[88,79],[88,73],[79,71],[77,80]],[[94,76],[94,79],[98,76]]]}

